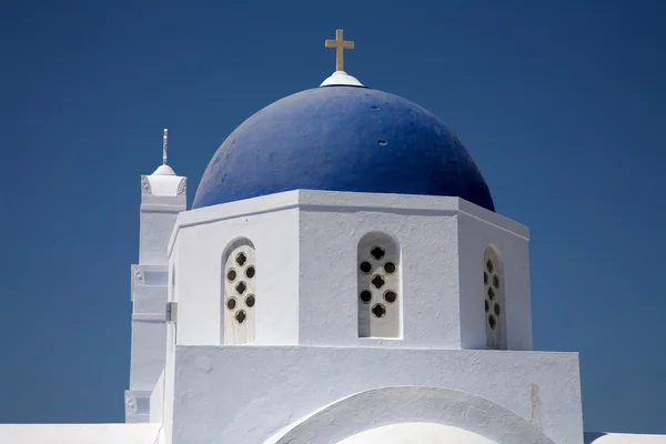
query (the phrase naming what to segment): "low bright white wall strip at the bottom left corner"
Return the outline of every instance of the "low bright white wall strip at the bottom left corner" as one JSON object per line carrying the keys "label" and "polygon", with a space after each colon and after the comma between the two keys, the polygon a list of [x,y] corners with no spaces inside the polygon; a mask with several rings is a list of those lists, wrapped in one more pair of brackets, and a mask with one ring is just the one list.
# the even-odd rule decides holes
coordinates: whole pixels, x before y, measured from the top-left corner
{"label": "low bright white wall strip at the bottom left corner", "polygon": [[2,444],[158,444],[159,424],[0,424]]}

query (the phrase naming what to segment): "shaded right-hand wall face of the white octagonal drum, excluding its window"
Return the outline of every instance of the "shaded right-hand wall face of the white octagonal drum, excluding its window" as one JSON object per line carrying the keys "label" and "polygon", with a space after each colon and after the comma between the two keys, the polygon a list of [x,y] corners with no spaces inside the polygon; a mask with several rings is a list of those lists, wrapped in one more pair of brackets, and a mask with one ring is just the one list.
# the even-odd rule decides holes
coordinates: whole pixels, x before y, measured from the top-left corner
{"label": "shaded right-hand wall face of the white octagonal drum, excluding its window", "polygon": [[461,279],[461,346],[486,349],[484,253],[494,245],[501,255],[508,350],[532,350],[529,231],[500,214],[461,201],[458,218]]}

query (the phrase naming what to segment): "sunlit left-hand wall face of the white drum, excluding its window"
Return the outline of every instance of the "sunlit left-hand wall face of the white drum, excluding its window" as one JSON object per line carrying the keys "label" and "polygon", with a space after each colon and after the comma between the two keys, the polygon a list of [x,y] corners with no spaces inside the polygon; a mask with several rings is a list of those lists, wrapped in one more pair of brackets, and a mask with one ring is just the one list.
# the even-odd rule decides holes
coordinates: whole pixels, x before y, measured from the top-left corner
{"label": "sunlit left-hand wall face of the white drum, excluding its window", "polygon": [[[254,343],[297,342],[299,213],[283,194],[183,213],[176,222],[172,260],[176,270],[179,344],[221,344],[223,254],[239,239],[256,255]],[[286,206],[285,206],[286,204]]]}

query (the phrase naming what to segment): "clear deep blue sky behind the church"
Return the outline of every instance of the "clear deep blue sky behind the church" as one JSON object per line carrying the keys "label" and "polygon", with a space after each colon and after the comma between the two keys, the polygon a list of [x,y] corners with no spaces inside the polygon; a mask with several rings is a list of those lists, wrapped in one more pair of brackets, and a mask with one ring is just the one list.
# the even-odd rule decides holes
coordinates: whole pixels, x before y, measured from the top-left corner
{"label": "clear deep blue sky behind the church", "polygon": [[430,109],[532,230],[534,344],[585,428],[666,433],[666,2],[0,3],[0,422],[121,422],[140,175],[335,67]]}

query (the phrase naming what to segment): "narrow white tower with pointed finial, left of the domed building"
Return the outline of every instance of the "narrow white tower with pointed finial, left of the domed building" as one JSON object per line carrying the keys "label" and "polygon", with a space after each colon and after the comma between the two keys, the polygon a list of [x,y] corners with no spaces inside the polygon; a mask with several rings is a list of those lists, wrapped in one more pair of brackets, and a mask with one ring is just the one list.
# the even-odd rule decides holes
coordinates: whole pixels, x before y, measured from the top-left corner
{"label": "narrow white tower with pointed finial, left of the domed building", "polygon": [[132,355],[125,422],[148,422],[150,393],[164,369],[164,306],[169,268],[167,244],[178,213],[186,210],[186,178],[167,164],[164,130],[162,164],[141,176],[139,264],[132,265]]}

